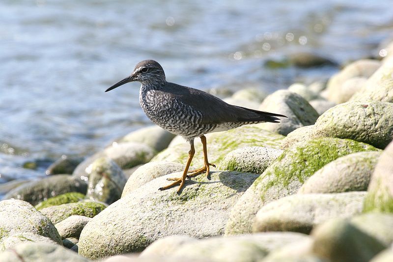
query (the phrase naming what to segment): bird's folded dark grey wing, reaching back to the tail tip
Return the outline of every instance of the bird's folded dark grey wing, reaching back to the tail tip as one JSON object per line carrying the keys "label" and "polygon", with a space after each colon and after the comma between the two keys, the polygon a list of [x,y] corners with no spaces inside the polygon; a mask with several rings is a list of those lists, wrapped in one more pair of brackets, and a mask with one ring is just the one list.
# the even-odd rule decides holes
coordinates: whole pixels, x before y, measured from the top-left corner
{"label": "bird's folded dark grey wing, reaching back to the tail tip", "polygon": [[203,124],[250,121],[277,122],[279,118],[274,116],[282,116],[230,105],[214,95],[195,88],[173,83],[167,83],[166,87],[167,95],[200,112],[203,116],[201,120]]}

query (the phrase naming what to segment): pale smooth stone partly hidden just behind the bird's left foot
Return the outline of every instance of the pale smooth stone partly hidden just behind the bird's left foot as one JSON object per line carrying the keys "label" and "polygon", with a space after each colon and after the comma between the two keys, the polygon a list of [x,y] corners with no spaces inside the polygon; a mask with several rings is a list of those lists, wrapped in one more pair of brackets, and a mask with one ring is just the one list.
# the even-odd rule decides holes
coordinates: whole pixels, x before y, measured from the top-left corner
{"label": "pale smooth stone partly hidden just behind the bird's left foot", "polygon": [[128,178],[126,185],[124,186],[121,197],[124,197],[128,193],[139,188],[141,185],[153,180],[154,178],[180,172],[184,170],[184,165],[180,163],[173,163],[168,161],[157,161],[144,164],[137,169]]}

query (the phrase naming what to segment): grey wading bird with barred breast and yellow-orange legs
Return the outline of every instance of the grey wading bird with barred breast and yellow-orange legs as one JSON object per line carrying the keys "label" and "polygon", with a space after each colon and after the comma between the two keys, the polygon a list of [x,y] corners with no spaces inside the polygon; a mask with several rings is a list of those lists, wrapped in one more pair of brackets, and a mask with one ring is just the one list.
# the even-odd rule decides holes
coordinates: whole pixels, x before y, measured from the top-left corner
{"label": "grey wading bird with barred breast and yellow-orange legs", "polygon": [[[165,80],[164,69],[154,60],[141,61],[135,66],[130,76],[109,87],[105,92],[134,81],[142,84],[139,102],[146,116],[170,133],[182,136],[191,146],[183,176],[169,178],[168,180],[173,182],[159,190],[179,185],[177,189],[179,193],[186,178],[202,173],[209,178],[209,166],[215,167],[215,165],[207,160],[205,134],[225,131],[246,124],[278,123],[277,120],[280,119],[275,116],[286,117],[229,105],[204,91],[168,83]],[[195,153],[194,139],[197,137],[202,142],[204,165],[199,169],[189,171]]]}

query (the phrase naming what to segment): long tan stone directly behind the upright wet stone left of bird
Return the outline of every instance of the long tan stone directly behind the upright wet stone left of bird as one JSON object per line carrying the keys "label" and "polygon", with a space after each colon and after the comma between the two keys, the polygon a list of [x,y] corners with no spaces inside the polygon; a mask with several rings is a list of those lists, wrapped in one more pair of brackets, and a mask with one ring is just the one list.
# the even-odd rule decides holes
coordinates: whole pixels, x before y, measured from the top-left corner
{"label": "long tan stone directly behind the upright wet stone left of bird", "polygon": [[89,177],[91,165],[95,160],[102,157],[113,160],[121,169],[129,169],[149,162],[156,154],[157,151],[153,147],[145,144],[138,142],[114,142],[112,146],[86,158],[77,166],[72,174],[78,177]]}

